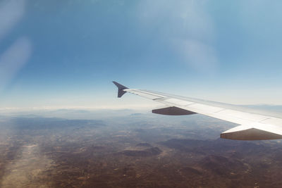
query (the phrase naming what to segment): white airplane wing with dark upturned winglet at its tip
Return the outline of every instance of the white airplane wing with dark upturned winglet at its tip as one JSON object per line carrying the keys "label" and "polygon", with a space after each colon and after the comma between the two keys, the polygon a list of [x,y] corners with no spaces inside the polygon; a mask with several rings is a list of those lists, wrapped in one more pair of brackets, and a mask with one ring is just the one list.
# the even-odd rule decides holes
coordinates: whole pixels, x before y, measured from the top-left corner
{"label": "white airplane wing with dark upturned winglet at its tip", "polygon": [[223,139],[282,139],[282,117],[279,117],[279,115],[266,114],[265,112],[262,113],[261,111],[231,104],[152,92],[145,89],[129,89],[118,82],[114,82],[114,84],[118,87],[118,98],[121,98],[123,94],[128,92],[165,105],[164,108],[152,110],[152,113],[162,115],[192,115],[200,113],[238,124],[237,127],[222,132],[220,137]]}

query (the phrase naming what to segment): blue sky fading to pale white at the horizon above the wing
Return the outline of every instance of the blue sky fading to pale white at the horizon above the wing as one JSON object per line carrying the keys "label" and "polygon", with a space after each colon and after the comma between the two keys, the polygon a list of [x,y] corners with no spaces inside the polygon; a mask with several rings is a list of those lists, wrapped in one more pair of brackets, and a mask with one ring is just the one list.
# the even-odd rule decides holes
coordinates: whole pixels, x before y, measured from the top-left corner
{"label": "blue sky fading to pale white at the horizon above the wing", "polygon": [[282,1],[0,3],[0,108],[147,108],[116,80],[282,104]]}

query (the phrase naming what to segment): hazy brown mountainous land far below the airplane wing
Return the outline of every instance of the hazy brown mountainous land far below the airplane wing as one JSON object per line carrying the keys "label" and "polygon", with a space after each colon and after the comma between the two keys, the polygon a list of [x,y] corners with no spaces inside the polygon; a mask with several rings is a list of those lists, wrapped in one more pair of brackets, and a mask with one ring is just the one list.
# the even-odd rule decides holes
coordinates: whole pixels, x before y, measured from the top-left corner
{"label": "hazy brown mountainous land far below the airplane wing", "polygon": [[213,138],[227,125],[159,117],[1,117],[1,187],[282,187],[279,141]]}

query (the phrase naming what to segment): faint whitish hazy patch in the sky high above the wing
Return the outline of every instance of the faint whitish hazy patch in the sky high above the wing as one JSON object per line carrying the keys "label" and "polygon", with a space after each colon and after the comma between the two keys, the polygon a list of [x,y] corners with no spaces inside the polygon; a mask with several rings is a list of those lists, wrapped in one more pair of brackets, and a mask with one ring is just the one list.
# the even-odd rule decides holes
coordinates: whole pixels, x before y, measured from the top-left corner
{"label": "faint whitish hazy patch in the sky high above the wing", "polygon": [[207,1],[141,1],[137,11],[147,32],[158,31],[180,61],[199,71],[211,71],[219,63],[214,23],[207,12]]}

